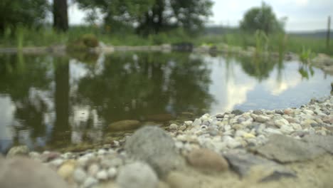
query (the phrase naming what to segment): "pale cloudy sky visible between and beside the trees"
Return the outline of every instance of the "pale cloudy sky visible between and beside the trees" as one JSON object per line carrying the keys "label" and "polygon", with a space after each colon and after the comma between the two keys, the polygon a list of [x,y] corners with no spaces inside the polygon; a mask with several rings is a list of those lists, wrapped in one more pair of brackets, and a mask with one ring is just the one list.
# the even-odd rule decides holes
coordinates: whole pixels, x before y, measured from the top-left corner
{"label": "pale cloudy sky visible between and beside the trees", "polygon": [[[260,6],[262,0],[213,0],[213,16],[209,25],[238,26],[245,12]],[[287,31],[313,31],[327,28],[327,17],[333,16],[333,0],[270,0],[278,19],[287,16]],[[85,23],[85,12],[77,5],[68,10],[70,24]],[[333,25],[333,24],[331,24]]]}

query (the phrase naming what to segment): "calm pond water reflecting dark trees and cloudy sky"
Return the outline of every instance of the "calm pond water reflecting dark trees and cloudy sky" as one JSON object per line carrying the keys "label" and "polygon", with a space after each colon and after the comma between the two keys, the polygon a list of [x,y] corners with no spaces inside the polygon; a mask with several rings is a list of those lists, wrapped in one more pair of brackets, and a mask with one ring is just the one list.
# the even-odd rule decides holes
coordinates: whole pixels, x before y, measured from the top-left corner
{"label": "calm pond water reflecting dark trees and cloudy sky", "polygon": [[[194,53],[0,55],[0,151],[102,143],[107,125],[300,107],[333,77],[296,61]],[[113,134],[113,135],[112,135]]]}

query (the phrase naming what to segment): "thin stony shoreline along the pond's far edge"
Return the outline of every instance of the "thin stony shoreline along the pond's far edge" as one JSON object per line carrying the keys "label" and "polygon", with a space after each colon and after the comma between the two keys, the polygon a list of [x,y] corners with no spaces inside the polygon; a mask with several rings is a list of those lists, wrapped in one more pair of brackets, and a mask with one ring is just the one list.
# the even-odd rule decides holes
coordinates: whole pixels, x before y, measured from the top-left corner
{"label": "thin stony shoreline along the pond's far edge", "polygon": [[[248,46],[248,48],[243,49],[240,46],[228,46],[227,44],[223,45],[223,48],[217,49],[216,47],[210,46],[191,46],[191,49],[188,49],[188,46],[171,46],[170,44],[163,44],[160,46],[107,46],[101,45],[95,48],[88,48],[87,51],[78,51],[81,53],[115,53],[116,51],[161,51],[164,53],[170,53],[171,51],[180,51],[180,52],[191,52],[191,53],[207,53],[207,54],[228,54],[238,56],[257,56],[255,52],[255,47]],[[0,48],[0,53],[26,53],[26,54],[45,54],[51,53],[54,56],[65,56],[68,52],[66,51],[65,45],[58,46],[39,46],[39,47],[23,47],[23,48]],[[312,60],[309,60],[311,66],[322,69],[324,73],[329,73],[333,75],[333,58],[324,54],[316,54]],[[272,58],[279,58],[279,53],[277,52],[264,52],[260,53],[260,56],[270,56]],[[290,61],[300,61],[299,56],[296,53],[287,52],[283,55],[283,59]]]}

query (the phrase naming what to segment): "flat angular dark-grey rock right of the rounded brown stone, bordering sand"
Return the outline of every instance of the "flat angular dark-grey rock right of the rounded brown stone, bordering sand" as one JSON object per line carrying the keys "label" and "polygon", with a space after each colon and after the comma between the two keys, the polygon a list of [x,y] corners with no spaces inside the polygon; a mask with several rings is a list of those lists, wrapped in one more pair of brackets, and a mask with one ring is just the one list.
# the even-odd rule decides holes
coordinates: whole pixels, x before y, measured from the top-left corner
{"label": "flat angular dark-grey rock right of the rounded brown stone, bordering sand", "polygon": [[259,182],[277,180],[281,177],[296,177],[294,172],[281,164],[244,150],[231,150],[224,156],[227,158],[231,169],[236,171],[240,177],[248,177],[255,174],[255,178]]}

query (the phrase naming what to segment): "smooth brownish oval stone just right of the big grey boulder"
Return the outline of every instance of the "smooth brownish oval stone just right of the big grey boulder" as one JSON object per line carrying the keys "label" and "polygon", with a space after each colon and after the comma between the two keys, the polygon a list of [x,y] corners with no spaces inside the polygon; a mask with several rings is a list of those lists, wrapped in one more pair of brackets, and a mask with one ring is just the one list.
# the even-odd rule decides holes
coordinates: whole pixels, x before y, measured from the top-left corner
{"label": "smooth brownish oval stone just right of the big grey boulder", "polygon": [[207,172],[212,170],[219,172],[228,169],[228,162],[224,157],[206,148],[192,150],[186,159],[191,166]]}

